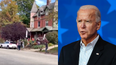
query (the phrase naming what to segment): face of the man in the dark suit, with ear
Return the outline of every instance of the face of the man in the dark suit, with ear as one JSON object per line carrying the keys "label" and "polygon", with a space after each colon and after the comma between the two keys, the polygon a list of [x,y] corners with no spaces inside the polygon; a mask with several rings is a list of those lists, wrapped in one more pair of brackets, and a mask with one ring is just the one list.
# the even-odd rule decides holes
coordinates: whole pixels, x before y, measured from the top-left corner
{"label": "face of the man in the dark suit, with ear", "polygon": [[80,9],[77,15],[77,28],[82,39],[89,39],[97,34],[101,22],[96,22],[95,10]]}

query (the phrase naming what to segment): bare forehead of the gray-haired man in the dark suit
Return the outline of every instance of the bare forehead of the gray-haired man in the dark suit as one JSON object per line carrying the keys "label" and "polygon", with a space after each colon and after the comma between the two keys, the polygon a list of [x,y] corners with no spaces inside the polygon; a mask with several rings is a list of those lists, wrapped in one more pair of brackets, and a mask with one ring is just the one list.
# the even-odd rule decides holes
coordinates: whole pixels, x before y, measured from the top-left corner
{"label": "bare forehead of the gray-haired man in the dark suit", "polygon": [[95,10],[94,9],[80,9],[77,13],[77,17],[81,16],[87,16],[87,17],[94,17],[95,16]]}

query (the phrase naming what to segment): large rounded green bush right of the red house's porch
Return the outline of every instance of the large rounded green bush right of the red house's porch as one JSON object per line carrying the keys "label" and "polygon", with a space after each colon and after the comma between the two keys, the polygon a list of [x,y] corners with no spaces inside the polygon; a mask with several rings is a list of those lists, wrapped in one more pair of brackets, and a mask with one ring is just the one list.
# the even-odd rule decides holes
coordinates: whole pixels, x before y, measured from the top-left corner
{"label": "large rounded green bush right of the red house's porch", "polygon": [[58,44],[58,32],[56,31],[48,32],[46,34],[46,38],[48,39],[50,43]]}

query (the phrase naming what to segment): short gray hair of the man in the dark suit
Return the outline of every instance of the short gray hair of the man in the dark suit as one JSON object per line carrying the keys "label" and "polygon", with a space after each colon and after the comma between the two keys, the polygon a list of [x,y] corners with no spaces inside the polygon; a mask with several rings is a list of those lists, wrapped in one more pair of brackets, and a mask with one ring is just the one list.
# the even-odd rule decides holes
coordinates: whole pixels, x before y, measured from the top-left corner
{"label": "short gray hair of the man in the dark suit", "polygon": [[94,5],[83,5],[83,6],[80,7],[80,9],[94,9],[95,10],[95,15],[96,15],[96,22],[101,21],[101,14],[100,14],[99,9],[96,6],[94,6]]}

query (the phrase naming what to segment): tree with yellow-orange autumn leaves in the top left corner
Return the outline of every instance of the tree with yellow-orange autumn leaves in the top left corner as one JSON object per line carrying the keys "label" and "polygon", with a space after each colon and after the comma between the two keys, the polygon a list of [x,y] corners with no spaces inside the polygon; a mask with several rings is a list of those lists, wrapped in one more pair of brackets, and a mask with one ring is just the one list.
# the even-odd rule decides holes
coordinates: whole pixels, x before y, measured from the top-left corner
{"label": "tree with yellow-orange autumn leaves in the top left corner", "polygon": [[18,6],[13,0],[1,0],[0,25],[19,22]]}

